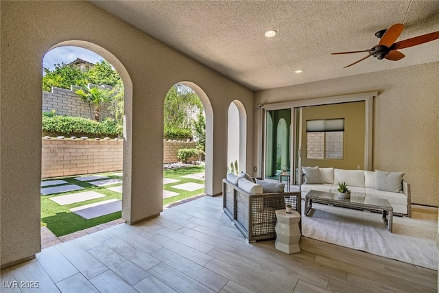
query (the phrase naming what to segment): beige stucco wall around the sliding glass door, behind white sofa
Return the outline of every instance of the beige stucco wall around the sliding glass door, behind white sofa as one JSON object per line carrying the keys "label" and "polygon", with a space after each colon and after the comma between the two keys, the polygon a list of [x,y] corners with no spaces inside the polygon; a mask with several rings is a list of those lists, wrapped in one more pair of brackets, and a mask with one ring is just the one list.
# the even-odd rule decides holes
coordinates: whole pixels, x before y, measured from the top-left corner
{"label": "beige stucco wall around the sliding glass door, behind white sofa", "polygon": [[[386,61],[385,61],[386,62]],[[390,62],[390,61],[387,61]],[[403,61],[401,61],[403,62]],[[255,104],[378,91],[372,169],[405,172],[412,202],[439,204],[439,62],[259,91]],[[256,113],[256,112],[255,112]],[[254,132],[255,140],[260,139]],[[254,154],[257,161],[258,154]]]}

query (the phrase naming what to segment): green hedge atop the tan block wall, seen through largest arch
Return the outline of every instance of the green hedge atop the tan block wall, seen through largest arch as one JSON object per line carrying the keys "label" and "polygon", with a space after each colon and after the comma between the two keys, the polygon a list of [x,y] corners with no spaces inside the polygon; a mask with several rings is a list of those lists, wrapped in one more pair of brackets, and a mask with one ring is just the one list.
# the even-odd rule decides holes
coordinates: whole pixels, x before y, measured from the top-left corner
{"label": "green hedge atop the tan block wall, seen through largest arch", "polygon": [[118,137],[123,133],[122,123],[106,118],[102,122],[82,117],[43,114],[43,132],[83,134],[95,137]]}

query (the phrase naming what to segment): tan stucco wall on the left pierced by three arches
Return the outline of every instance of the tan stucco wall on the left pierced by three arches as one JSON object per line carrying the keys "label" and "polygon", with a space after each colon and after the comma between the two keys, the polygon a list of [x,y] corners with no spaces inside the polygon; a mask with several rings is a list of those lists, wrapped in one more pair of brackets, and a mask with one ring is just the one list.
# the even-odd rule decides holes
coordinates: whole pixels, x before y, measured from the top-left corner
{"label": "tan stucco wall on the left pierced by three arches", "polygon": [[[40,251],[42,60],[58,45],[91,49],[125,85],[122,218],[139,222],[163,211],[163,99],[185,82],[206,110],[206,194],[226,174],[227,113],[246,109],[252,136],[254,94],[86,1],[1,1],[1,266]],[[56,13],[47,16],[48,11]],[[26,119],[20,119],[22,117]],[[252,158],[252,144],[245,154]],[[251,159],[247,160],[248,169]]]}

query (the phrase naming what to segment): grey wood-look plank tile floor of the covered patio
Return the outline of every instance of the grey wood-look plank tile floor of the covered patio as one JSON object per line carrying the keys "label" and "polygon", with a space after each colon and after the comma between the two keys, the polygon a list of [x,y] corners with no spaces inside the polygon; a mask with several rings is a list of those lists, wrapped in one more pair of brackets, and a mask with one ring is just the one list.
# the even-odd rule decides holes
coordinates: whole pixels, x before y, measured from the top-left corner
{"label": "grey wood-look plank tile floor of the covered patio", "polygon": [[203,197],[46,248],[1,270],[0,291],[23,281],[39,288],[21,292],[437,292],[436,270],[305,237],[300,249],[248,244],[222,197]]}

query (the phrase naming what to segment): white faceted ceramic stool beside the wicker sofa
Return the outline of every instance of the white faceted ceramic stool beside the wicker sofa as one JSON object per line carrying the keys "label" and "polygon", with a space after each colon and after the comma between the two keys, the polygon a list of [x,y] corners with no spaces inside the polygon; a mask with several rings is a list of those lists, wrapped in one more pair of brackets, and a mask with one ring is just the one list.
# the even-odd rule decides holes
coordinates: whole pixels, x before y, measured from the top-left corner
{"label": "white faceted ceramic stool beside the wicker sofa", "polygon": [[278,209],[276,218],[276,249],[288,254],[300,253],[300,214],[297,211],[287,213],[285,209]]}

